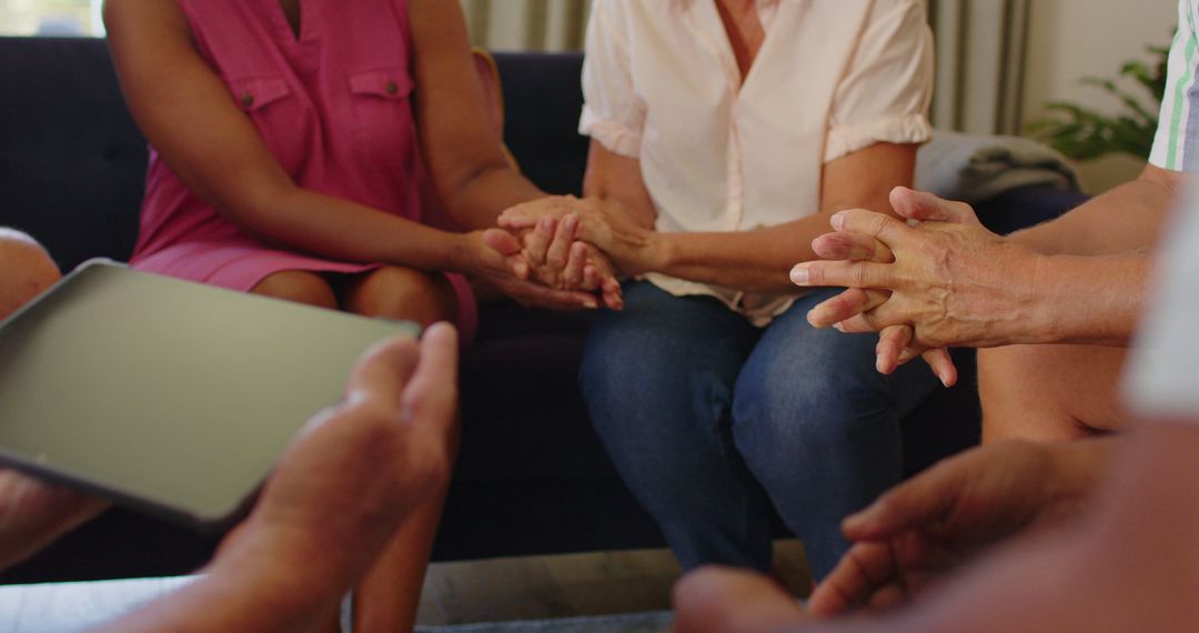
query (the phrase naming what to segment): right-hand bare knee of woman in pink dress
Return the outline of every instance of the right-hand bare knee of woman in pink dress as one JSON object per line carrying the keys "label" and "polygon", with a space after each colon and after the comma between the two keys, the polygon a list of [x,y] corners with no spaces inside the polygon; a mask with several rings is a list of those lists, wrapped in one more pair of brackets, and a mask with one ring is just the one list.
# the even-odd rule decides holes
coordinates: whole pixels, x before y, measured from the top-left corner
{"label": "right-hand bare knee of woman in pink dress", "polygon": [[453,288],[438,273],[384,266],[349,284],[345,309],[367,316],[406,319],[421,325],[452,319]]}

